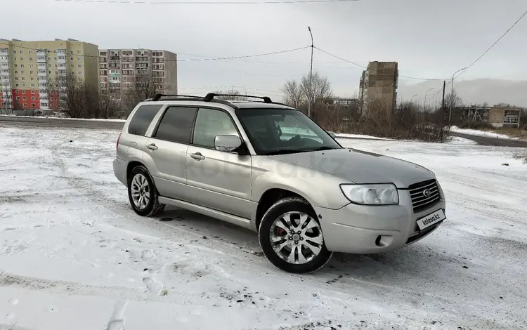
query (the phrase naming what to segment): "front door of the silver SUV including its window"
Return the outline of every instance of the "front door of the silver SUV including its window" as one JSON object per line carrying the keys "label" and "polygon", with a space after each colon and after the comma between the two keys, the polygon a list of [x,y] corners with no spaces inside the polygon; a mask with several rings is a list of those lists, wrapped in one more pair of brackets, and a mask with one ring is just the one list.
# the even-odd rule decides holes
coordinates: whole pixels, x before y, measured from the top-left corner
{"label": "front door of the silver SUV including its window", "polygon": [[195,204],[251,218],[251,157],[214,149],[218,135],[240,136],[228,112],[199,109],[187,149],[187,184]]}

